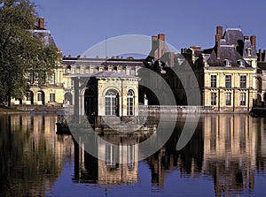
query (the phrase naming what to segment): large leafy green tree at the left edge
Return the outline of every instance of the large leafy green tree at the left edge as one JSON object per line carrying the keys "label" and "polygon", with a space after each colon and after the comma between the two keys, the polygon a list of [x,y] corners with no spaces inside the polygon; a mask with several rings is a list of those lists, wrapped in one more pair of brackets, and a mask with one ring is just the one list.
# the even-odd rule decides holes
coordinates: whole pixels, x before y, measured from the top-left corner
{"label": "large leafy green tree at the left edge", "polygon": [[23,98],[27,71],[44,77],[43,72],[50,73],[59,63],[59,49],[45,46],[29,31],[35,28],[36,15],[29,0],[0,0],[0,98],[9,106],[12,97]]}

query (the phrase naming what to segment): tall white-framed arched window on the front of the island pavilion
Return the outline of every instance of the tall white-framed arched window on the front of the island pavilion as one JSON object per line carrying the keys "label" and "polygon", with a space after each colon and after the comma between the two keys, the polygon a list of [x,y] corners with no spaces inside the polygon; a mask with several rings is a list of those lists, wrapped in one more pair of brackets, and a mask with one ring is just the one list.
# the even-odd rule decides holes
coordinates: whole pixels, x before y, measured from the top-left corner
{"label": "tall white-framed arched window on the front of the island pavilion", "polygon": [[106,92],[106,116],[118,115],[118,92],[115,89],[109,89]]}

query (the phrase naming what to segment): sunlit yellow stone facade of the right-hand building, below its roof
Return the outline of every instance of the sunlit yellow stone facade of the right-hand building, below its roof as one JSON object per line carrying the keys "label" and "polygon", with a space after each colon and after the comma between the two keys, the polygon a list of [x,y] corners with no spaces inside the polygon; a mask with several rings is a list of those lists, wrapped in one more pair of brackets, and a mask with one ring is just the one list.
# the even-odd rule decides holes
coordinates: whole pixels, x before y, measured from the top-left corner
{"label": "sunlit yellow stone facade of the right-hand building, below its roof", "polygon": [[[214,106],[215,110],[224,111],[248,111],[253,106],[256,98],[254,68],[226,69],[206,68],[204,70],[203,105]],[[216,87],[211,87],[211,77],[216,76]],[[231,76],[231,87],[225,86],[225,76]],[[246,87],[240,87],[240,77],[246,76]],[[212,103],[211,94],[216,94],[216,102]],[[231,94],[231,104],[226,104],[226,94]],[[241,100],[241,94],[245,94],[245,100]],[[241,104],[241,101],[245,102]]]}

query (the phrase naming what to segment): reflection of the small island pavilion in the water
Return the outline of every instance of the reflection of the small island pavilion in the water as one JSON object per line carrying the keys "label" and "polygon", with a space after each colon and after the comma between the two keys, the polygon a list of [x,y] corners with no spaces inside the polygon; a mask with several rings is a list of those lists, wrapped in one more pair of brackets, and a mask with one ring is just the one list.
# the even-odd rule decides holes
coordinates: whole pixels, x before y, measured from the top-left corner
{"label": "reflection of the small island pavilion in the water", "polygon": [[[110,143],[103,143],[104,140]],[[82,143],[79,145],[74,142],[75,180],[114,185],[137,182],[137,137],[130,136],[129,140],[129,137],[118,135],[102,136],[93,145],[98,148],[98,158],[100,159],[86,152]]]}

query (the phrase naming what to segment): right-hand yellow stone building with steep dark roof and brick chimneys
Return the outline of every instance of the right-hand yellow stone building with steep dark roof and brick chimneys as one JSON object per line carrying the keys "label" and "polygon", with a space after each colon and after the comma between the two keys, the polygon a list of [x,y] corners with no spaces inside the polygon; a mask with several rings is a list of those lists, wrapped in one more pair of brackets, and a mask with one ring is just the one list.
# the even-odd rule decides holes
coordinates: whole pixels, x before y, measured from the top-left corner
{"label": "right-hand yellow stone building with steep dark roof and brick chimneys", "polygon": [[249,111],[257,96],[255,36],[216,27],[215,47],[202,51],[202,105],[219,111]]}

